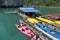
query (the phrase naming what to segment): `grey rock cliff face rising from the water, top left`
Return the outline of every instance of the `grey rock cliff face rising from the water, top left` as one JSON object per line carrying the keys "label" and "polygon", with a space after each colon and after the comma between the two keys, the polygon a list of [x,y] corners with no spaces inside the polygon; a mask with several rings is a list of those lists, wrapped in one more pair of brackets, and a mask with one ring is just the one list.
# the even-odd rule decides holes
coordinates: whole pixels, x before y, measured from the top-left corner
{"label": "grey rock cliff face rising from the water, top left", "polygon": [[24,0],[1,0],[1,6],[23,6]]}

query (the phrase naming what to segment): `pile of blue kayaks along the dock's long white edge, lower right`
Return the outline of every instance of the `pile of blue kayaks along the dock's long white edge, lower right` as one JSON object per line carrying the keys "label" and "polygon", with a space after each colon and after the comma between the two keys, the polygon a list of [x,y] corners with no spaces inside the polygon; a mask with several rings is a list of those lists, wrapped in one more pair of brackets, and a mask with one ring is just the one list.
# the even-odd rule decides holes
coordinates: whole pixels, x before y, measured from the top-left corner
{"label": "pile of blue kayaks along the dock's long white edge, lower right", "polygon": [[36,24],[40,29],[42,29],[43,31],[47,32],[48,34],[52,35],[53,37],[55,37],[56,39],[60,40],[60,34],[58,34],[57,32],[60,31],[56,31],[54,32],[54,30],[52,28],[48,27],[44,27],[44,24]]}

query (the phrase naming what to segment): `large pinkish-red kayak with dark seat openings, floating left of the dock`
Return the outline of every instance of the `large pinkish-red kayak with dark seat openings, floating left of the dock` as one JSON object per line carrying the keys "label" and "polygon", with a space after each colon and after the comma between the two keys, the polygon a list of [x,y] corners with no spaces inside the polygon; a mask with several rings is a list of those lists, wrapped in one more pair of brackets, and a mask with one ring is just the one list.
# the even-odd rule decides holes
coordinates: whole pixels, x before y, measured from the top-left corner
{"label": "large pinkish-red kayak with dark seat openings, floating left of the dock", "polygon": [[35,34],[30,29],[28,29],[25,24],[20,24],[20,25],[16,24],[16,28],[19,31],[21,31],[23,34],[29,36],[30,38],[35,36]]}

